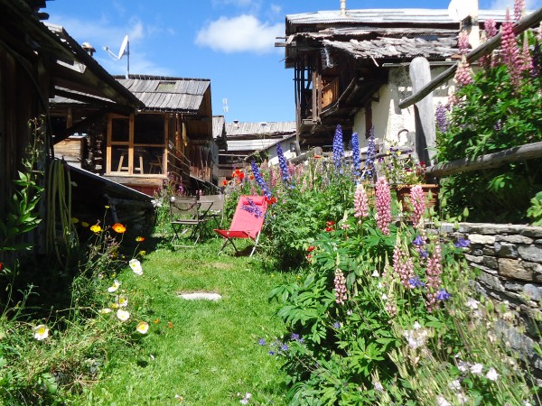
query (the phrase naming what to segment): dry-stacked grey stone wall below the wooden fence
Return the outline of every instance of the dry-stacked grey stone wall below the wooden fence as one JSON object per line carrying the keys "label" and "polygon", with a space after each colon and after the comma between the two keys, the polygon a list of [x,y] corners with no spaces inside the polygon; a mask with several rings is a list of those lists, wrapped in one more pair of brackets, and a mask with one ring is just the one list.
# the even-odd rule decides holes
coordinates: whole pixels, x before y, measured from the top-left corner
{"label": "dry-stacked grey stone wall below the wooden fence", "polygon": [[500,334],[542,377],[542,359],[535,351],[542,328],[542,227],[462,223],[458,231],[448,231],[471,242],[465,258],[481,271],[479,290],[522,319],[518,328],[500,323]]}

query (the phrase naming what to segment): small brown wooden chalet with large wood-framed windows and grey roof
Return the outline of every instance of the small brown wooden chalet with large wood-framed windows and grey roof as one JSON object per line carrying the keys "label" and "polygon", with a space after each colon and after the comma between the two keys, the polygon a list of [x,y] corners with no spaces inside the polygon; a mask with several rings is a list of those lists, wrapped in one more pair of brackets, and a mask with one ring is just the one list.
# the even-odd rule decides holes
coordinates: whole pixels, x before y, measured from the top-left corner
{"label": "small brown wooden chalet with large wood-framed windows and grey roof", "polygon": [[[147,195],[164,180],[194,189],[213,184],[210,80],[133,74],[115,78],[144,107],[131,114],[110,112],[98,130],[84,129],[89,151],[81,159],[83,168]],[[59,97],[53,106],[66,126],[70,117],[73,122],[76,115],[97,108]]]}

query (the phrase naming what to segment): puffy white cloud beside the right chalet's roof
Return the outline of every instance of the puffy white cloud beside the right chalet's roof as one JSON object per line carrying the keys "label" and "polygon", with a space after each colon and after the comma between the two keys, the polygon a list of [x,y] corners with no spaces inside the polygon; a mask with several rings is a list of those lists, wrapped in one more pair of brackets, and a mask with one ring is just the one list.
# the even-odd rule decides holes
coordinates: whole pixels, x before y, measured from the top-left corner
{"label": "puffy white cloud beside the right chalet's roof", "polygon": [[263,23],[254,15],[241,14],[208,23],[198,32],[196,43],[226,53],[266,53],[274,51],[276,37],[284,33],[283,23]]}

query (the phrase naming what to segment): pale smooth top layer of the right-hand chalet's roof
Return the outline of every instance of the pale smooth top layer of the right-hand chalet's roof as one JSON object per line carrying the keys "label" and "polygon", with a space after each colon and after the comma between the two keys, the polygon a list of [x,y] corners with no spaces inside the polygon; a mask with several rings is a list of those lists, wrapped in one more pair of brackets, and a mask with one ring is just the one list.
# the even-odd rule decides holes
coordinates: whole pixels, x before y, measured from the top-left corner
{"label": "pale smooth top layer of the right-hand chalet's roof", "polygon": [[[483,22],[491,18],[497,22],[504,21],[505,12],[503,10],[480,10],[479,21]],[[341,15],[339,10],[319,11],[314,13],[289,14],[286,15],[286,24],[416,24],[416,25],[446,25],[455,24],[448,15],[448,10],[444,9],[424,9],[424,8],[405,8],[405,9],[363,9],[347,10],[346,14]],[[293,32],[286,32],[293,33]]]}

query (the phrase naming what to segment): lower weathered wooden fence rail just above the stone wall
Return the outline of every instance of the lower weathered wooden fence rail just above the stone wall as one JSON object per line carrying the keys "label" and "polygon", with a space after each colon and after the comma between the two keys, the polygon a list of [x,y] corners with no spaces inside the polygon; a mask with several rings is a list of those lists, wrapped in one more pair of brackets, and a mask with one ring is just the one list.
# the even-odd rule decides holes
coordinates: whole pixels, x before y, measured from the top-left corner
{"label": "lower weathered wooden fence rail just above the stone wall", "polygon": [[440,178],[453,175],[454,173],[498,168],[505,163],[532,160],[535,158],[542,158],[542,142],[528,143],[500,152],[489,153],[474,160],[463,158],[461,160],[438,163],[425,168],[425,173]]}

